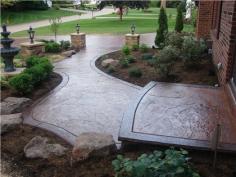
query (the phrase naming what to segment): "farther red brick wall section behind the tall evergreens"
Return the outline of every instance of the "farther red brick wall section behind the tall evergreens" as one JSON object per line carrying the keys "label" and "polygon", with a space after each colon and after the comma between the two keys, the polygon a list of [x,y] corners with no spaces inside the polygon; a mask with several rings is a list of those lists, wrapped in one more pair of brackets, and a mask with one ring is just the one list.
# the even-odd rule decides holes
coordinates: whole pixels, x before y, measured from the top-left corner
{"label": "farther red brick wall section behind the tall evergreens", "polygon": [[197,15],[197,38],[210,38],[214,1],[200,1]]}

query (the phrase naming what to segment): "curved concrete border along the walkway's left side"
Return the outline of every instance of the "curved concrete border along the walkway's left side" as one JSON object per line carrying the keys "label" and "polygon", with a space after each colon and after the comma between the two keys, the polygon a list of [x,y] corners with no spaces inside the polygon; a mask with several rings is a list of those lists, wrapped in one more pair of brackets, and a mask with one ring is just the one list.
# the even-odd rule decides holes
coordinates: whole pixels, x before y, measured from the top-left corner
{"label": "curved concrete border along the walkway's left side", "polygon": [[76,135],[74,135],[73,133],[67,131],[62,127],[47,122],[39,121],[33,117],[33,111],[37,105],[45,102],[49,98],[49,96],[58,92],[60,89],[65,87],[69,82],[69,76],[66,73],[60,72],[58,70],[56,70],[55,72],[62,76],[62,82],[56,88],[51,90],[49,93],[47,93],[40,99],[36,100],[29,108],[27,108],[27,110],[23,112],[23,119],[24,119],[23,124],[28,124],[52,132],[55,135],[67,141],[69,144],[74,145],[77,137]]}

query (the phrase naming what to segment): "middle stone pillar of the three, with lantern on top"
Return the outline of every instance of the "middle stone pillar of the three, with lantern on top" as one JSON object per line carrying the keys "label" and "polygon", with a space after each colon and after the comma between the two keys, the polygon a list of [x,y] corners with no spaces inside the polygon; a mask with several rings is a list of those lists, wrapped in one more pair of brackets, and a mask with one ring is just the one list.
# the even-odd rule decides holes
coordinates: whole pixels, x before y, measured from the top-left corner
{"label": "middle stone pillar of the three, with lantern on top", "polygon": [[72,33],[71,35],[71,45],[75,50],[79,50],[86,46],[86,35],[85,33]]}

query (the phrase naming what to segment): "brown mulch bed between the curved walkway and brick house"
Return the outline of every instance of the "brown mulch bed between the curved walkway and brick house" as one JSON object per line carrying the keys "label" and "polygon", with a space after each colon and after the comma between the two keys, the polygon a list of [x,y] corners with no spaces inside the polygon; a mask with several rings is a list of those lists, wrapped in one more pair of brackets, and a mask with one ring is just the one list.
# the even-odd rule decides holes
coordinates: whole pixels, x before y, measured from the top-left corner
{"label": "brown mulch bed between the curved walkway and brick house", "polygon": [[[158,49],[149,49],[147,53],[152,55],[158,54]],[[184,83],[184,84],[199,84],[199,85],[210,85],[214,86],[218,84],[218,79],[215,74],[214,66],[212,64],[211,55],[205,55],[200,58],[200,63],[198,66],[194,68],[186,68],[182,60],[177,60],[173,66],[173,70],[170,73],[168,78],[161,78],[155,68],[148,64],[147,60],[142,60],[141,56],[144,53],[140,51],[133,51],[131,53],[132,56],[136,58],[135,63],[130,63],[128,68],[122,68],[120,65],[115,67],[115,72],[109,73],[108,68],[102,67],[101,63],[104,59],[112,58],[116,60],[120,60],[124,58],[121,51],[112,52],[100,57],[96,61],[96,66],[114,77],[117,77],[121,80],[125,80],[127,82],[145,86],[150,81],[159,81],[159,82],[172,82],[172,83]],[[129,69],[131,67],[137,67],[142,70],[142,77],[135,78],[129,76]]]}

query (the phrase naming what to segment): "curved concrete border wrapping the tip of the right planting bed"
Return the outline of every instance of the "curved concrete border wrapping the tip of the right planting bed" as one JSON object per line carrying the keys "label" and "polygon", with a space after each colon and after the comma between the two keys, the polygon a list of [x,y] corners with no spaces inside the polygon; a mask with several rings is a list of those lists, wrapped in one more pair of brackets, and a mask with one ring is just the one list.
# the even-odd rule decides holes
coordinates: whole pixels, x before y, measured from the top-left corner
{"label": "curved concrete border wrapping the tip of the right planting bed", "polygon": [[[111,51],[111,52],[109,52],[109,53],[116,52],[116,51],[117,51],[117,50],[114,50],[114,51]],[[103,55],[106,55],[106,54],[109,54],[109,53],[105,53],[105,54],[103,54]],[[122,84],[124,84],[124,85],[128,85],[128,86],[130,86],[130,87],[133,87],[133,88],[135,88],[135,89],[138,89],[138,90],[141,90],[141,89],[142,89],[142,87],[140,87],[140,86],[138,86],[138,85],[135,85],[135,84],[126,82],[126,81],[124,81],[124,80],[121,80],[121,79],[119,79],[119,78],[116,78],[116,77],[114,77],[114,76],[111,76],[111,75],[109,75],[109,74],[103,72],[103,71],[100,70],[99,68],[97,68],[97,66],[96,66],[96,61],[97,61],[101,56],[103,56],[103,55],[96,56],[96,57],[94,57],[92,60],[90,60],[90,67],[91,67],[96,73],[101,74],[101,75],[103,75],[103,76],[105,76],[105,77],[107,77],[107,78],[109,78],[109,79],[111,79],[111,80],[115,80],[115,81],[117,81],[117,82],[120,82],[120,83],[122,83]]]}

